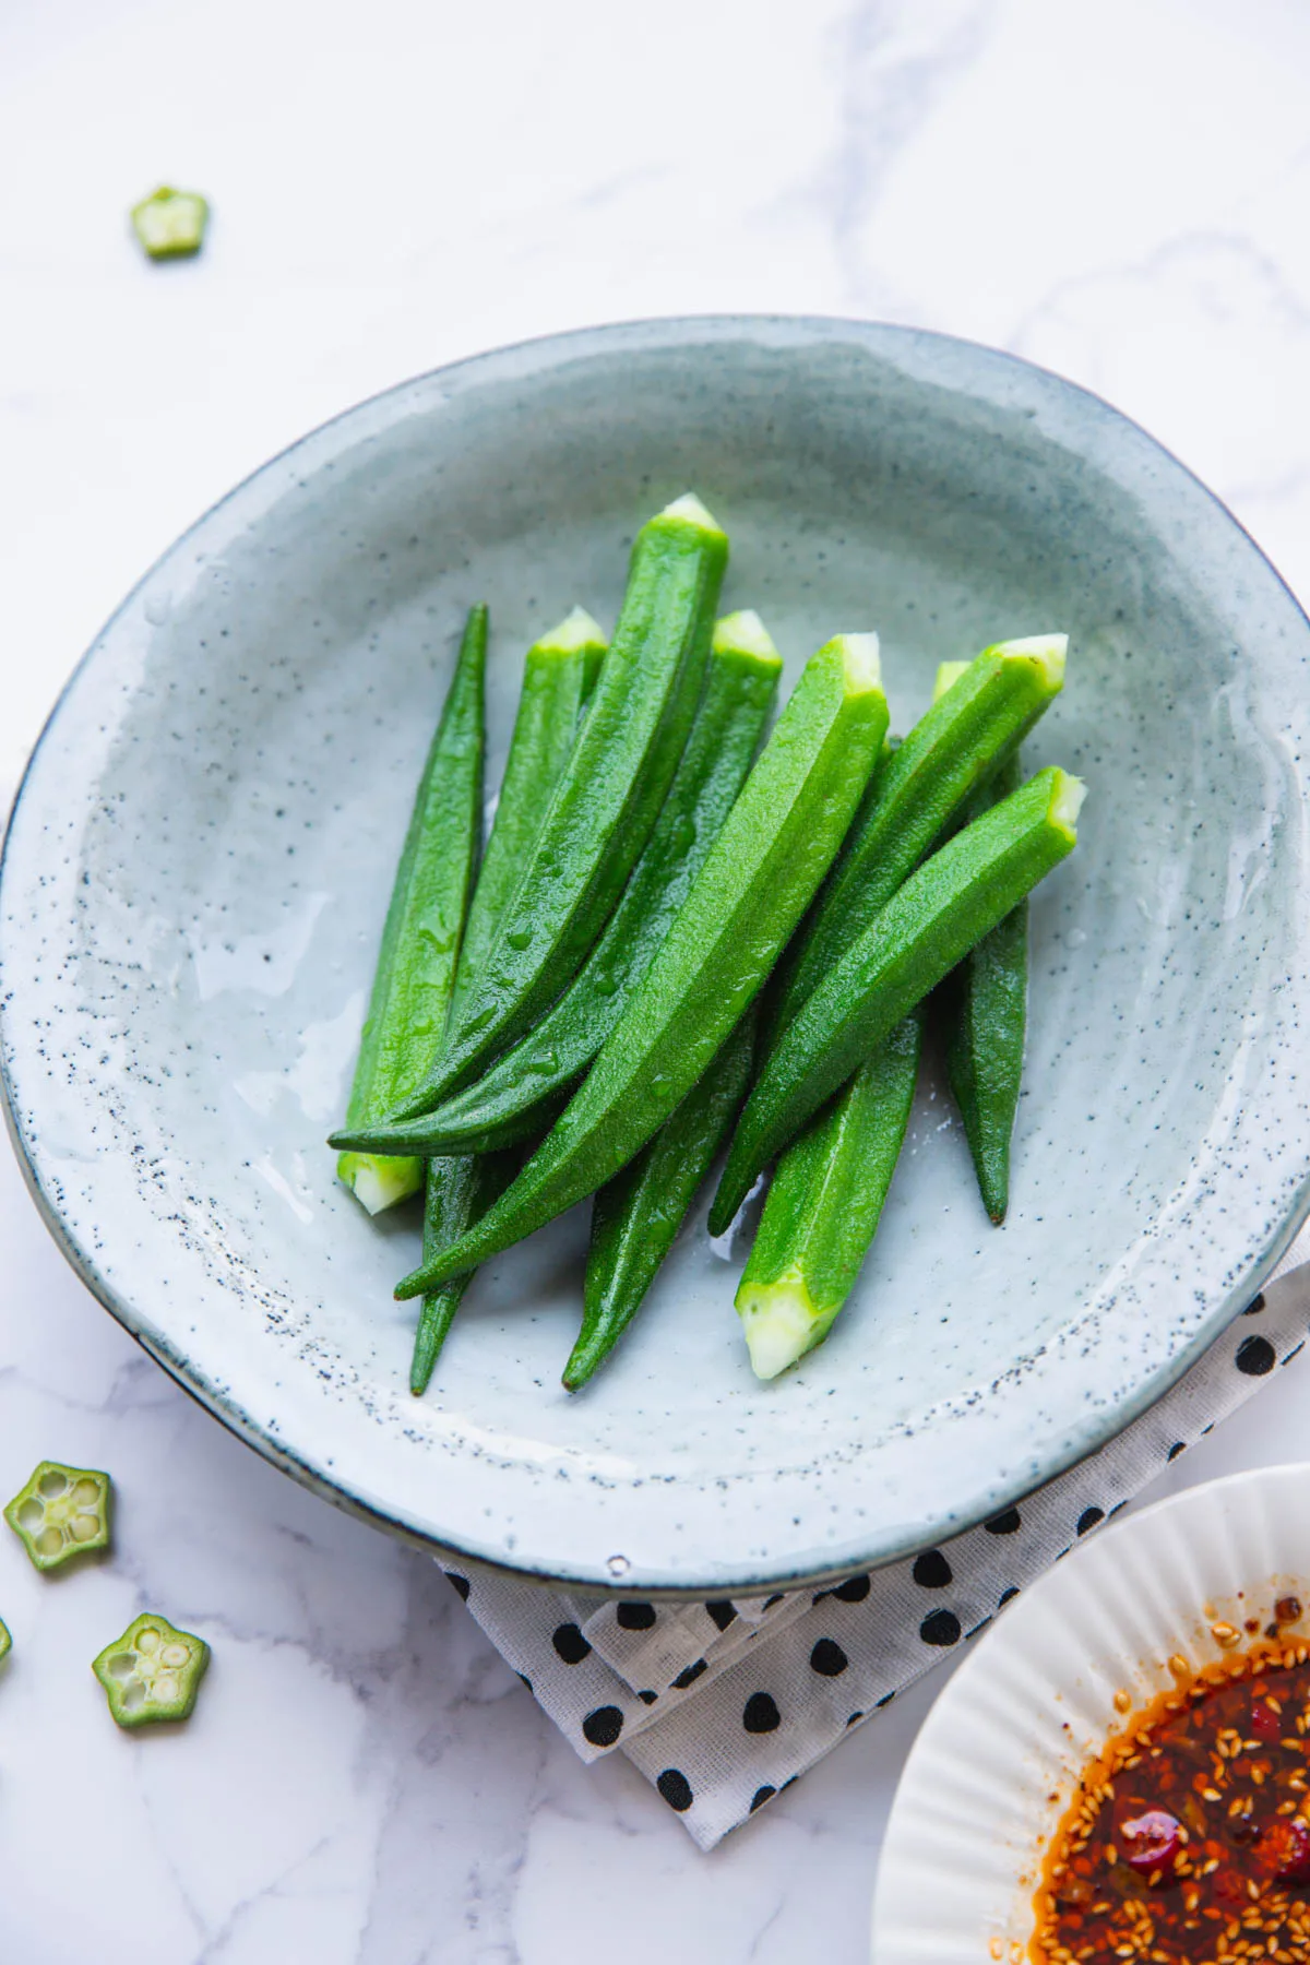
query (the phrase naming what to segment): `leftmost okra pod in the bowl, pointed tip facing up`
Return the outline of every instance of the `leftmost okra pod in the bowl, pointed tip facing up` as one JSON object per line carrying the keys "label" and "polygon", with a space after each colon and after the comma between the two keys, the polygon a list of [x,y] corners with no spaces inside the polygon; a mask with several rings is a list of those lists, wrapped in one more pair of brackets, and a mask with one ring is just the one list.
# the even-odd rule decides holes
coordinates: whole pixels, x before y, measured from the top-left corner
{"label": "leftmost okra pod in the bowl, pointed tip facing up", "polygon": [[[481,847],[487,609],[473,607],[418,782],[391,888],[369,1014],[346,1112],[355,1132],[422,1081],[442,1041]],[[338,1179],[379,1214],[422,1185],[422,1159],[346,1151]]]}

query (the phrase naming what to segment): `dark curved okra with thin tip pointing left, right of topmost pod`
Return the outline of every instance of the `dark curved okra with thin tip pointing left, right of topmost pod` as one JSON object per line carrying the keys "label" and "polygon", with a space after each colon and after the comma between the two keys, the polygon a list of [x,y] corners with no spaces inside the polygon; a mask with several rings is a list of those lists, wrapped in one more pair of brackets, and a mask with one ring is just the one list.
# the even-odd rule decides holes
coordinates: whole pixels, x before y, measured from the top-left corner
{"label": "dark curved okra with thin tip pointing left, right of topmost pod", "polygon": [[[548,1130],[623,1016],[742,788],[782,658],[756,613],[717,623],[687,749],[605,933],[540,1024],[434,1112],[350,1134],[373,1153],[485,1153]],[[334,1144],[346,1136],[334,1134]]]}

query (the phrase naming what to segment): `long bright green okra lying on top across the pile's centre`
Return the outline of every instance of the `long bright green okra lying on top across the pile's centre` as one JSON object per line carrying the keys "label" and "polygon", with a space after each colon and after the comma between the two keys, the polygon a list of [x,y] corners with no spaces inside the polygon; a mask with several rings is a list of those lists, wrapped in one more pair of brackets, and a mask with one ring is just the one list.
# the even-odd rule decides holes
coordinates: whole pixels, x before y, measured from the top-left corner
{"label": "long bright green okra lying on top across the pile's centre", "polygon": [[841,845],[888,727],[876,635],[813,654],[691,892],[587,1079],[469,1234],[399,1285],[414,1297],[603,1187],[735,1030]]}

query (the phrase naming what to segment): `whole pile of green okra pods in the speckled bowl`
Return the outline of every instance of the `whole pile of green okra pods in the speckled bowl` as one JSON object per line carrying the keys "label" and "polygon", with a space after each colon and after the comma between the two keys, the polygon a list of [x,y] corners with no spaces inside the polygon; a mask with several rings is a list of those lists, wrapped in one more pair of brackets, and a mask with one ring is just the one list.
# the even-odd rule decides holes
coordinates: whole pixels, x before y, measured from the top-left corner
{"label": "whole pile of green okra pods in the speckled bowl", "polygon": [[685,495],[636,534],[609,645],[583,609],[526,654],[483,847],[487,609],[469,613],[395,876],[338,1171],[424,1193],[410,1389],[489,1256],[593,1197],[575,1391],[727,1146],[729,1228],[772,1167],[737,1311],[760,1377],[831,1328],[941,1028],[1000,1222],[1027,1014],[1027,894],[1082,784],[1023,782],[1064,635],[943,662],[888,737],[876,635],[835,635],[762,743],[782,662],[715,619],[729,542]]}

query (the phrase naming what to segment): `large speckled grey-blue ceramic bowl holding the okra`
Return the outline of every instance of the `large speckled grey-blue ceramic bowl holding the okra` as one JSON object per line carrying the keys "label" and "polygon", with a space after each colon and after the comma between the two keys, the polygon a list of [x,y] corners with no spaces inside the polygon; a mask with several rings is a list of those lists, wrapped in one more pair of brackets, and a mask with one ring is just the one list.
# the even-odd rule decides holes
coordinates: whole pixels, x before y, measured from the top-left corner
{"label": "large speckled grey-blue ceramic bowl holding the okra", "polygon": [[[1033,906],[1013,1207],[923,1093],[858,1293],[744,1360],[703,1207],[579,1397],[579,1212],[477,1279],[432,1393],[391,1301],[414,1212],[334,1183],[414,776],[471,599],[493,772],[528,639],[613,619],[695,487],[788,670],[876,627],[894,719],[937,662],[1068,629],[1033,764],[1082,845]],[[1139,1413],[1308,1205],[1310,629],[1228,513],[1104,403],[900,328],[605,328],[438,371],[257,472],[86,656],[0,892],[4,1079],[96,1295],[214,1413],[399,1533],[579,1584],[758,1590],[900,1556]]]}

